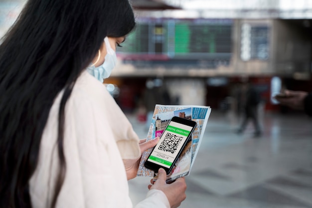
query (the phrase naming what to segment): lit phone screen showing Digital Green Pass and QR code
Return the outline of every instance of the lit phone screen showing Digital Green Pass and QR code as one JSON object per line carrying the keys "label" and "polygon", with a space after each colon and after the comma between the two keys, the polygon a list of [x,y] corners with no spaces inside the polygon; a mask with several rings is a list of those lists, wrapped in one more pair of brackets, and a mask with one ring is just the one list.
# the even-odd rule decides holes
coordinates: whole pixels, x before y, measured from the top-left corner
{"label": "lit phone screen showing Digital Green Pass and QR code", "polygon": [[170,121],[147,161],[169,169],[192,129],[192,126]]}

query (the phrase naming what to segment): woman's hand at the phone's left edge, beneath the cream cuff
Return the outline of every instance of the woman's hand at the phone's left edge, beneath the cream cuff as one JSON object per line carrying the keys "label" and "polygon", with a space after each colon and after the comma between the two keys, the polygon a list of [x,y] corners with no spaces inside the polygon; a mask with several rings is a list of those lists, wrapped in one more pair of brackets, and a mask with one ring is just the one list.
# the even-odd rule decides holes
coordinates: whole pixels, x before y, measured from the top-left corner
{"label": "woman's hand at the phone's left edge, beneath the cream cuff", "polygon": [[[140,150],[141,150],[141,156],[142,153],[152,147],[155,147],[156,144],[159,141],[159,137],[156,137],[153,140],[146,141],[146,139],[142,139],[139,142]],[[126,169],[127,179],[134,179],[137,176],[138,168],[140,165],[141,156],[136,159],[124,159],[124,165]]]}

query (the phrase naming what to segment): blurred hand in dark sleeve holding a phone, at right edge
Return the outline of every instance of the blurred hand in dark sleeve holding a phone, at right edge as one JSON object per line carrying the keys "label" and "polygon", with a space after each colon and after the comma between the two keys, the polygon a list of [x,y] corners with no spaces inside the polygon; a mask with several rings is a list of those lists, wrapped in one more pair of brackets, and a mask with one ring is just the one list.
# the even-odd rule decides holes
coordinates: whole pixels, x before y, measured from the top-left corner
{"label": "blurred hand in dark sleeve holding a phone, at right edge", "polygon": [[277,95],[274,98],[282,105],[304,110],[307,115],[312,116],[312,92],[285,90],[282,96]]}

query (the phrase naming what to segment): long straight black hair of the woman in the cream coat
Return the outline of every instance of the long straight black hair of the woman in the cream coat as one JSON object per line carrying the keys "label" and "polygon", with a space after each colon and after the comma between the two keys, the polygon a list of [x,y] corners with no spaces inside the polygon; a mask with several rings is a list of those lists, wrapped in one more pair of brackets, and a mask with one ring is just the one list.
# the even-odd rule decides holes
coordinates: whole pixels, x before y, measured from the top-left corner
{"label": "long straight black hair of the woman in the cream coat", "polygon": [[128,0],[29,0],[0,45],[0,207],[31,208],[43,129],[57,94],[60,171],[52,207],[66,172],[64,108],[81,72],[105,36],[135,26]]}

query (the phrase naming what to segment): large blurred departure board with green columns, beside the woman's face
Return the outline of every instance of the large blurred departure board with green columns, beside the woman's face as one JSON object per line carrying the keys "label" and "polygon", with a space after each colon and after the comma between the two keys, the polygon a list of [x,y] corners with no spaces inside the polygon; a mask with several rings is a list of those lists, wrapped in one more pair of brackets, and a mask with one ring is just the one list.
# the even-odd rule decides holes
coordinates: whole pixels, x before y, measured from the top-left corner
{"label": "large blurred departure board with green columns, beside the woman's face", "polygon": [[128,61],[196,65],[199,60],[228,65],[232,24],[230,19],[139,18],[136,29],[117,52]]}

